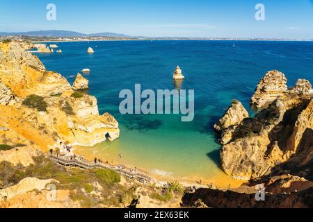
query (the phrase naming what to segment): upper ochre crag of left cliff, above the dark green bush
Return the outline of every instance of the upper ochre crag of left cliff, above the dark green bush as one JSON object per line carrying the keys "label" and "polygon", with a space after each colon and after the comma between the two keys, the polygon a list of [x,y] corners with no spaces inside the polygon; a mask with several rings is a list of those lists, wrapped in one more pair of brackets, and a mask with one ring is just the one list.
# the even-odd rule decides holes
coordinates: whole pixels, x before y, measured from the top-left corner
{"label": "upper ochre crag of left cliff, above the dark green bush", "polygon": [[46,71],[42,62],[17,42],[1,44],[0,55],[1,83],[10,87],[19,98],[30,94],[51,96],[71,89],[63,76],[54,71]]}

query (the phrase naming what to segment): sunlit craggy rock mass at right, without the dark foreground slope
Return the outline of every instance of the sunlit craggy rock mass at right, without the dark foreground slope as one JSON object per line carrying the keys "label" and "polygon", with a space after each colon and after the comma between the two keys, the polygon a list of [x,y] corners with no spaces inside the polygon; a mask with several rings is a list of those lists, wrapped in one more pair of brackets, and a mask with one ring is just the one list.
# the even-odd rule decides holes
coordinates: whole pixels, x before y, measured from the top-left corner
{"label": "sunlit craggy rock mass at right, without the dark foreground slope", "polygon": [[304,133],[313,128],[313,102],[303,92],[309,92],[310,83],[298,80],[296,93],[287,90],[286,83],[284,74],[268,72],[252,97],[254,105],[266,108],[247,118],[242,105],[238,105],[239,112],[234,112],[236,106],[232,103],[216,123],[223,144],[221,168],[228,175],[243,180],[262,178],[290,160],[303,139],[309,141]]}

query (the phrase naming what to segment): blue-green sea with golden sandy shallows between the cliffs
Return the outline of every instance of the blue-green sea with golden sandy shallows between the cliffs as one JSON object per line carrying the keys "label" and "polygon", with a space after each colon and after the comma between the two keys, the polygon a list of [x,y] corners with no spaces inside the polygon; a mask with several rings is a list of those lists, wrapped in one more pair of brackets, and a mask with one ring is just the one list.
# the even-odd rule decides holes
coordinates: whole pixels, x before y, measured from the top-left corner
{"label": "blue-green sea with golden sandy shallows between the cliffs", "polygon": [[[266,71],[278,69],[294,85],[298,78],[313,83],[313,42],[118,41],[58,42],[63,53],[38,54],[48,70],[73,83],[77,72],[90,81],[99,111],[118,119],[121,137],[80,153],[123,162],[172,178],[223,177],[218,169],[220,146],[213,124],[232,99],[249,109],[249,101]],[[86,51],[91,46],[93,55]],[[195,119],[179,115],[122,115],[122,89],[175,89],[172,72],[179,65],[186,77],[182,89],[195,89]],[[251,112],[252,113],[252,112]],[[118,155],[121,154],[122,158]]]}

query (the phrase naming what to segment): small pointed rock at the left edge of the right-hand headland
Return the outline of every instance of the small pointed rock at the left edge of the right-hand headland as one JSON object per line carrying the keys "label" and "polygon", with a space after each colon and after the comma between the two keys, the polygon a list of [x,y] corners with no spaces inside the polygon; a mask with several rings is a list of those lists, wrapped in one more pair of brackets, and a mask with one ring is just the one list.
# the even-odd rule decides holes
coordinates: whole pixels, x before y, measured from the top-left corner
{"label": "small pointed rock at the left edge of the right-hand headland", "polygon": [[232,105],[227,109],[224,116],[214,125],[214,128],[220,135],[219,142],[227,144],[232,139],[232,133],[243,119],[249,117],[247,110],[237,101],[232,101]]}

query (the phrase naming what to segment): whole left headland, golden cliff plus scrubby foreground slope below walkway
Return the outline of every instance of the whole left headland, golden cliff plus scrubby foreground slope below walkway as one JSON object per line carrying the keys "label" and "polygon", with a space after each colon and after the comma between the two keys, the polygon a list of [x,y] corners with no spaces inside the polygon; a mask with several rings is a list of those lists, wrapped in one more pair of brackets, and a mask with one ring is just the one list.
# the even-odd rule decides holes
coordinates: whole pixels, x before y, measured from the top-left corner
{"label": "whole left headland, golden cliff plus scrubby foreground slope below walkway", "polygon": [[0,208],[127,207],[139,197],[137,207],[179,207],[178,183],[150,185],[109,168],[64,167],[47,156],[59,142],[94,146],[118,138],[120,130],[80,90],[88,88],[86,78],[78,74],[71,87],[26,51],[34,48],[0,43]]}

